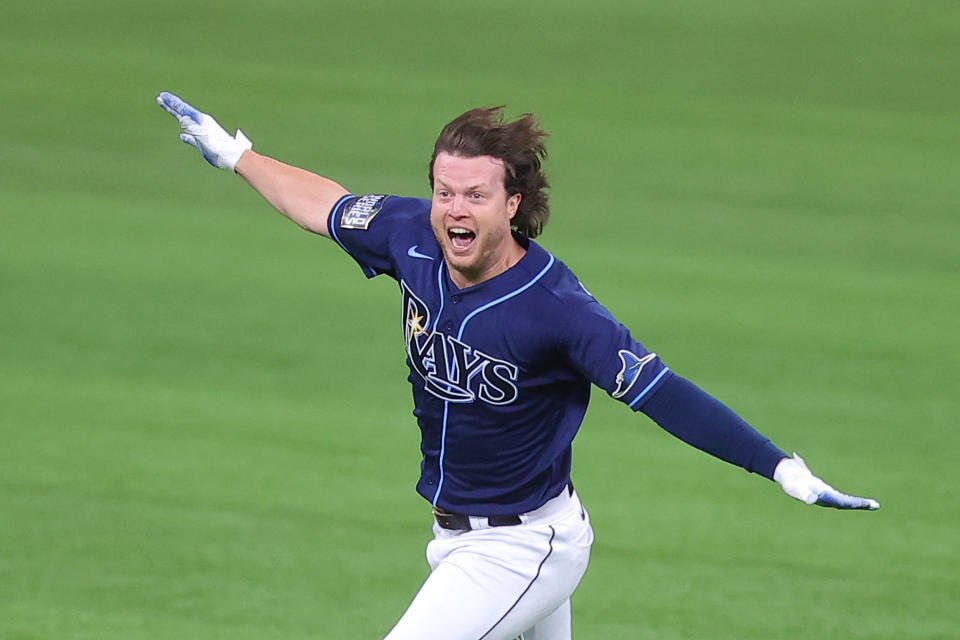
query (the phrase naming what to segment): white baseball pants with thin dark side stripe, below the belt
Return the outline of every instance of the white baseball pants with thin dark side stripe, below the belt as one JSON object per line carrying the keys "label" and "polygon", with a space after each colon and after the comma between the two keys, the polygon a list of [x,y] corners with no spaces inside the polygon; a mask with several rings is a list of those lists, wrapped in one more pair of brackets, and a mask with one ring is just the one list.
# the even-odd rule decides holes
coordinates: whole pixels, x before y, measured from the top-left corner
{"label": "white baseball pants with thin dark side stripe, below the belt", "polygon": [[590,559],[593,529],[564,489],[521,524],[470,531],[434,524],[432,569],[385,640],[570,640],[570,595]]}

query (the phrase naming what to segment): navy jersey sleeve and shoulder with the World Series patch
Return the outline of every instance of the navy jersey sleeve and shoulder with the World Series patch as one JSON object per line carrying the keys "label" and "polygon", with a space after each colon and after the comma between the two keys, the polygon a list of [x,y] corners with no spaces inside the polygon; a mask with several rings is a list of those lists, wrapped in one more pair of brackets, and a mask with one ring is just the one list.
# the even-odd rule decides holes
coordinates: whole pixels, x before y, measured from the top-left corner
{"label": "navy jersey sleeve and shoulder with the World Series patch", "polygon": [[367,194],[346,195],[327,220],[330,237],[372,278],[394,276],[393,251],[404,236],[430,226],[430,201],[420,198]]}

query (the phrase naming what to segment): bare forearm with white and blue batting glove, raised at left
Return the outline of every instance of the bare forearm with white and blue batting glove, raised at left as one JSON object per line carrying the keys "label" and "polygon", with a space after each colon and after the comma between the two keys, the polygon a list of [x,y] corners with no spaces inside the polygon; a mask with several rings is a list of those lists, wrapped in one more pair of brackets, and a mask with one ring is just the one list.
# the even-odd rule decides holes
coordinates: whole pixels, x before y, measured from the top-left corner
{"label": "bare forearm with white and blue batting glove, raised at left", "polygon": [[209,114],[164,91],[157,103],[177,118],[180,139],[196,147],[211,165],[243,177],[267,202],[308,231],[329,237],[327,216],[349,192],[338,183],[253,151],[239,129],[230,136]]}

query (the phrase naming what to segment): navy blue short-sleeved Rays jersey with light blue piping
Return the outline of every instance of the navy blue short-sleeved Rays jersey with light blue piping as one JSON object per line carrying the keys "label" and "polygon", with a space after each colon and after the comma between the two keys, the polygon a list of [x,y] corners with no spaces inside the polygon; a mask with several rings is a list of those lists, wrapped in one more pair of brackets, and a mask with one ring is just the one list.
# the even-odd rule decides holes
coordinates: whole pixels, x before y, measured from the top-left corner
{"label": "navy blue short-sleeved Rays jersey with light blue piping", "polygon": [[430,201],[345,196],[331,237],[367,277],[400,285],[400,322],[421,431],[417,490],[471,515],[531,511],[570,477],[590,384],[639,410],[672,374],[536,242],[478,285],[451,281]]}

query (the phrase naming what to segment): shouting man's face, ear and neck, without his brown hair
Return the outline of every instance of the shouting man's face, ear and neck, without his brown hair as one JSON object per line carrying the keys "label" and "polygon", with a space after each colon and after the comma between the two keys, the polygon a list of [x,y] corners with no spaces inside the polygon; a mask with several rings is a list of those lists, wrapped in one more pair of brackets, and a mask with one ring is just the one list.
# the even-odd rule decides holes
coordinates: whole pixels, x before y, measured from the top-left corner
{"label": "shouting man's face, ear and neck, without his brown hair", "polygon": [[507,195],[504,177],[503,162],[490,156],[442,152],[433,163],[430,224],[460,288],[506,271],[523,256],[510,234],[520,194]]}

